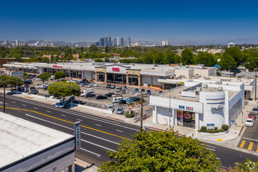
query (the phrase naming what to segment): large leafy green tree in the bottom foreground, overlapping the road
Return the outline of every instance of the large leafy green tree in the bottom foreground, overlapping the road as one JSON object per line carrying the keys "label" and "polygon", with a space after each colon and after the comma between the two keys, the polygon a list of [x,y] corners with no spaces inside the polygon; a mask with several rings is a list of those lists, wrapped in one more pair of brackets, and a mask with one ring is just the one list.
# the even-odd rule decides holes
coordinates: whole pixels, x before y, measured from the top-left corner
{"label": "large leafy green tree in the bottom foreground, overlapping the road", "polygon": [[179,139],[173,130],[141,132],[132,137],[133,141],[120,141],[117,151],[105,151],[112,161],[99,166],[99,172],[208,172],[221,165],[201,141],[186,135]]}

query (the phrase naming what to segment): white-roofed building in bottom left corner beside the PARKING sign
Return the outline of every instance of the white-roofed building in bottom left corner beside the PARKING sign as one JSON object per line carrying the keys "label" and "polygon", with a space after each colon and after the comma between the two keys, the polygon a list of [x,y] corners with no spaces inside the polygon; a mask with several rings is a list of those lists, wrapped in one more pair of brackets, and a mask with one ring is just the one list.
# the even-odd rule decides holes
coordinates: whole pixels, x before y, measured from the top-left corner
{"label": "white-roofed building in bottom left corner beside the PARKING sign", "polygon": [[0,171],[75,171],[75,136],[0,114]]}

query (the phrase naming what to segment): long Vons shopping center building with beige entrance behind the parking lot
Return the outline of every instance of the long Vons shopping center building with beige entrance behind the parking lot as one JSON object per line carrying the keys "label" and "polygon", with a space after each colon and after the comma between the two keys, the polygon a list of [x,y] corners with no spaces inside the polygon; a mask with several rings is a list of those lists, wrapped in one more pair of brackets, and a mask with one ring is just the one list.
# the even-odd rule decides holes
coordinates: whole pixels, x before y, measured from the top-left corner
{"label": "long Vons shopping center building with beige entrance behind the parking lot", "polygon": [[159,79],[189,78],[196,74],[202,76],[216,75],[215,67],[203,65],[169,66],[153,64],[119,64],[99,62],[72,63],[8,63],[6,70],[24,71],[28,73],[51,73],[63,71],[66,77],[99,80],[105,83],[124,85],[150,86],[161,89],[171,89],[174,85],[158,82]]}

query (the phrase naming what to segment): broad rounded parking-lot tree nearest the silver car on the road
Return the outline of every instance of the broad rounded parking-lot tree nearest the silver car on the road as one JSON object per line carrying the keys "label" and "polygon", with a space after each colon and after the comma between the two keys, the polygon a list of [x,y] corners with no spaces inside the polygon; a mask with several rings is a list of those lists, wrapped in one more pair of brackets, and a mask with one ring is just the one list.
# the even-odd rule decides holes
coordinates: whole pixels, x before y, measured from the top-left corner
{"label": "broad rounded parking-lot tree nearest the silver car on the road", "polygon": [[71,95],[79,96],[81,88],[77,83],[67,83],[66,81],[63,81],[51,83],[47,90],[49,91],[49,94],[62,96],[64,98],[65,96]]}

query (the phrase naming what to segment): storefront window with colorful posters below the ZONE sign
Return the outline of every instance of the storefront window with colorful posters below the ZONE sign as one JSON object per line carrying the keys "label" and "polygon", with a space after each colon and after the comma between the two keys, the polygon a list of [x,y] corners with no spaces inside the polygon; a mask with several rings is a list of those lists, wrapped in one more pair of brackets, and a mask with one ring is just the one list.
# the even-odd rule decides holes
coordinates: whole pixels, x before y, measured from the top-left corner
{"label": "storefront window with colorful posters below the ZONE sign", "polygon": [[195,112],[177,110],[177,125],[195,128]]}

